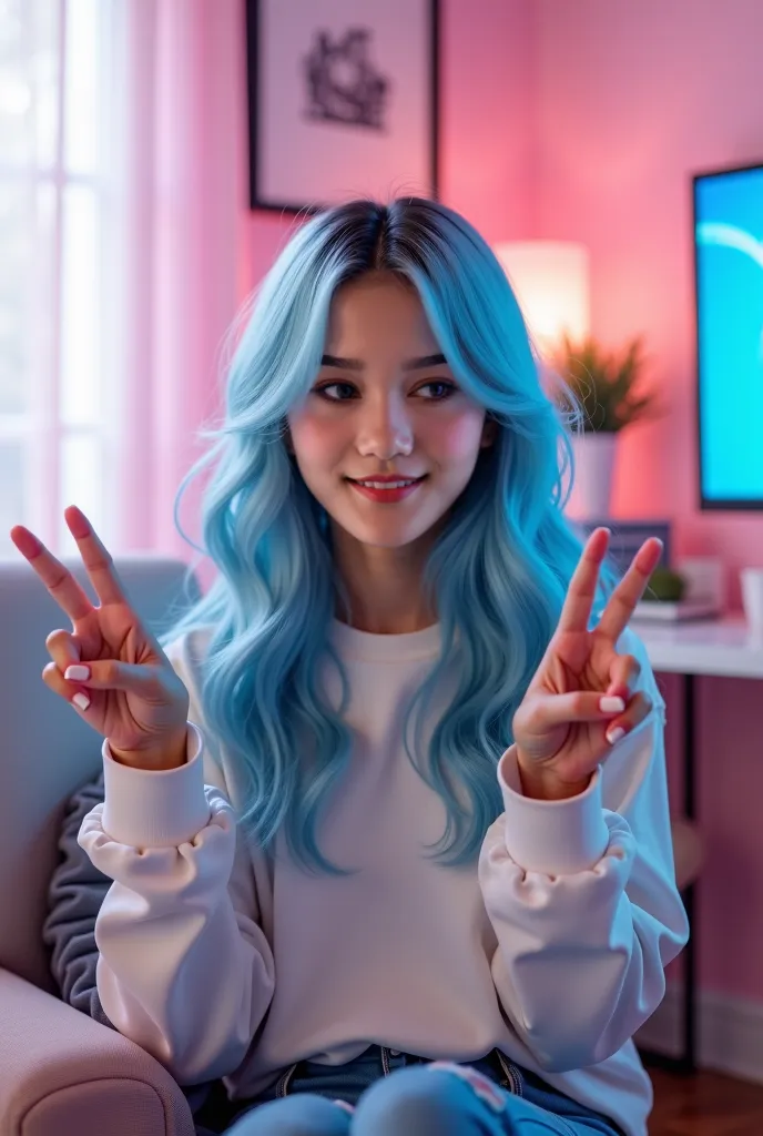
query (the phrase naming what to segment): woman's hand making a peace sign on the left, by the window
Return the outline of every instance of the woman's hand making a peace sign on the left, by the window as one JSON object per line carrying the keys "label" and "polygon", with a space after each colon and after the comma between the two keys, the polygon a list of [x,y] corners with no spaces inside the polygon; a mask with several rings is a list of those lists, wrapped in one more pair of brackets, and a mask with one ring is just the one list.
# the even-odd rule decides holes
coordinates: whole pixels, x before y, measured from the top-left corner
{"label": "woman's hand making a peace sign on the left, by the window", "polygon": [[[188,692],[132,610],[112,559],[85,515],[69,506],[64,516],[100,600],[98,608],[28,528],[16,525],[10,531],[14,544],[73,625],[72,632],[54,630],[45,640],[53,661],[42,678],[108,738],[116,761],[137,769],[177,768],[186,760]],[[86,666],[90,677],[66,679],[72,666]],[[85,709],[73,701],[77,694],[90,700]]]}

